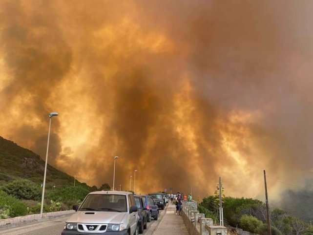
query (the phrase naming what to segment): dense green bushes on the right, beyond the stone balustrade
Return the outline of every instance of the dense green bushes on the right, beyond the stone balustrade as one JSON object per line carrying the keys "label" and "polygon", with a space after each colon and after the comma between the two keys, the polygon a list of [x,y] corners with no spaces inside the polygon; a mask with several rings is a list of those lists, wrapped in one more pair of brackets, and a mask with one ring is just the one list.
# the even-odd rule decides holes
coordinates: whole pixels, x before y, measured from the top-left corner
{"label": "dense green bushes on the right, beyond the stone balustrade", "polygon": [[[216,196],[203,198],[198,205],[200,213],[212,218],[214,224],[219,223],[219,207]],[[267,235],[266,207],[259,200],[252,198],[225,197],[223,204],[224,225],[241,228],[245,231]],[[271,211],[272,235],[313,235],[313,229],[300,218],[291,216],[285,211]]]}

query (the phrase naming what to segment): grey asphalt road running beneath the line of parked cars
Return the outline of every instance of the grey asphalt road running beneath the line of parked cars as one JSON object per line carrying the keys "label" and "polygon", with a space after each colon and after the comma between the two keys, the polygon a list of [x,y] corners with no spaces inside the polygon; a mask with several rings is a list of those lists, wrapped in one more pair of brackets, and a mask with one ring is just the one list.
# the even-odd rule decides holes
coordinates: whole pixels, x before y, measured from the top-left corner
{"label": "grey asphalt road running beneath the line of parked cars", "polygon": [[[163,216],[165,215],[165,210],[159,211],[158,220],[151,219],[151,222],[148,222],[147,229],[144,230],[144,235],[152,235],[153,231],[156,229]],[[0,235],[61,235],[65,220],[69,217],[62,216],[49,221],[42,221],[37,223],[31,223],[24,226],[9,228],[9,229],[0,229]]]}

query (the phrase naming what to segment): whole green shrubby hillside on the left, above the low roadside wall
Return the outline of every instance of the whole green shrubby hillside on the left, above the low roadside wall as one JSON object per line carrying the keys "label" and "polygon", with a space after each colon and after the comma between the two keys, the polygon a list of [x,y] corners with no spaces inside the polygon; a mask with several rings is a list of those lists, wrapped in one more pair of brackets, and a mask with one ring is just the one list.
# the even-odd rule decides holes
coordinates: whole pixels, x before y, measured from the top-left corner
{"label": "whole green shrubby hillside on the left, above the low roadside wall", "polygon": [[[39,214],[42,197],[44,161],[36,153],[0,137],[0,219]],[[55,187],[54,187],[55,186]],[[110,190],[104,183],[99,189],[54,167],[47,166],[43,212],[72,209],[92,191]]]}

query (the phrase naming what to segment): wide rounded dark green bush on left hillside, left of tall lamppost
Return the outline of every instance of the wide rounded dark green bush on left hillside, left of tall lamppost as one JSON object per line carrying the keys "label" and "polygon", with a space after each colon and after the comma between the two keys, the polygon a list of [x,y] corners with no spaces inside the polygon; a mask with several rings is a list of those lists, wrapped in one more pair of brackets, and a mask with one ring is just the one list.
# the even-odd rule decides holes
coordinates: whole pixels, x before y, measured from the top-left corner
{"label": "wide rounded dark green bush on left hillside, left of tall lamppost", "polygon": [[2,186],[2,190],[18,199],[40,200],[42,192],[39,185],[27,179],[19,179]]}

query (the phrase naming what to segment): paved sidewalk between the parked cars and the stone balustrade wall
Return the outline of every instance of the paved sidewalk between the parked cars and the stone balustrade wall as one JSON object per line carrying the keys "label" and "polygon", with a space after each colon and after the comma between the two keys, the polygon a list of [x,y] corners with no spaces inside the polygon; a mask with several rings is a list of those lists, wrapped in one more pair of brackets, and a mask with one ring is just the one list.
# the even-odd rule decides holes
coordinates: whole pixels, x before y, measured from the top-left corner
{"label": "paved sidewalk between the parked cars and the stone balustrade wall", "polygon": [[153,235],[189,235],[182,216],[177,215],[175,205],[169,204]]}

